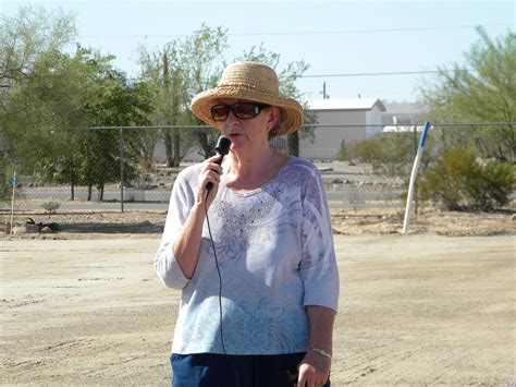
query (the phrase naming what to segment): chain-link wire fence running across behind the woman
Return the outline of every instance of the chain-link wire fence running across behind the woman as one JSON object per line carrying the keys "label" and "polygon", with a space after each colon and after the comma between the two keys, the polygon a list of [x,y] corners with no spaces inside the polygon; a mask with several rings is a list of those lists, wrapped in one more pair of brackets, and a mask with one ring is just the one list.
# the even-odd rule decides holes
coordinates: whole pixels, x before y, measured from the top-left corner
{"label": "chain-link wire fence running across behind the woman", "polygon": [[[426,152],[435,155],[451,143],[471,144],[513,160],[515,124],[434,124]],[[298,142],[299,157],[319,167],[331,207],[402,208],[421,126],[307,125]],[[14,211],[165,211],[177,173],[209,156],[217,132],[207,126],[132,126],[88,128],[66,135],[69,149],[52,158],[61,161],[47,160],[33,173],[17,173]],[[346,159],[347,146],[371,136],[401,140],[393,144],[403,148],[392,149],[405,154],[396,172]],[[271,146],[286,153],[287,140],[275,138]],[[11,206],[4,201],[0,210],[5,214]]]}

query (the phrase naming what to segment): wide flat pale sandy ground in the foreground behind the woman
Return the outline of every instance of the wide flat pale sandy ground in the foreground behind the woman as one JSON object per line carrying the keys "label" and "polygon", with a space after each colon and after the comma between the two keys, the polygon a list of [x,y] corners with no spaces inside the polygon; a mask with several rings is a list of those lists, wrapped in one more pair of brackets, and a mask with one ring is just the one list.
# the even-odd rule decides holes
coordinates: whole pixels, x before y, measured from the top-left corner
{"label": "wide flat pale sandy ground in the foreground behind the woman", "polygon": [[[159,237],[115,235],[0,240],[2,384],[170,383],[179,292],[153,273]],[[334,386],[516,384],[513,235],[335,246]]]}

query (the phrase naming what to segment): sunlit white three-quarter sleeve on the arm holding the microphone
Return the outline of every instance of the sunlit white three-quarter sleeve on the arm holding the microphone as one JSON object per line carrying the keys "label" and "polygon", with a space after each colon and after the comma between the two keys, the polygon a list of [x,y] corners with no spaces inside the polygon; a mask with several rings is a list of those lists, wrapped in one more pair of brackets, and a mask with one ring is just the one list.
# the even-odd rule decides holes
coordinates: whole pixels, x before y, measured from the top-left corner
{"label": "sunlit white three-quarter sleeve on the arm holding the microphone", "polygon": [[180,234],[193,206],[193,192],[185,179],[187,172],[183,170],[175,179],[163,235],[161,237],[160,246],[155,259],[156,274],[159,279],[169,288],[174,289],[183,289],[189,282],[189,279],[184,276],[172,250],[175,239]]}

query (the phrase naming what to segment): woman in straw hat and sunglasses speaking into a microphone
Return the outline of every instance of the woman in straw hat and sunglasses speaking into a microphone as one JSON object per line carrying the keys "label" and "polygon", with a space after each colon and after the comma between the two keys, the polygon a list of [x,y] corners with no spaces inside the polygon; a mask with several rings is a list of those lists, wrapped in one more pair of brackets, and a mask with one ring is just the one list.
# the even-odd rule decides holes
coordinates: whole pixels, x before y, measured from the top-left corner
{"label": "woman in straw hat and sunglasses speaking into a microphone", "polygon": [[303,108],[272,69],[237,62],[192,110],[232,144],[172,191],[156,256],[182,290],[172,384],[329,385],[339,274],[325,194],[312,164],[269,147],[303,124]]}

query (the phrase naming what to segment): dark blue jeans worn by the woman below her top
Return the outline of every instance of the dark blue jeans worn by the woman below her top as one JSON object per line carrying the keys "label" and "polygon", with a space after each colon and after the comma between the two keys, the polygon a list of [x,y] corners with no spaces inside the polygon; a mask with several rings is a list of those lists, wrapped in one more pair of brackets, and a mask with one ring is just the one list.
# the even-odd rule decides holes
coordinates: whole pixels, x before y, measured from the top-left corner
{"label": "dark blue jeans worn by the woman below her top", "polygon": [[[286,387],[296,378],[305,353],[225,355],[214,353],[170,356],[173,387]],[[330,387],[330,380],[324,385]]]}

